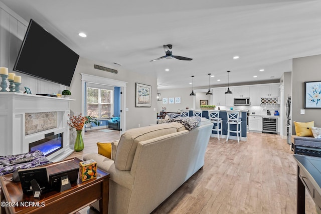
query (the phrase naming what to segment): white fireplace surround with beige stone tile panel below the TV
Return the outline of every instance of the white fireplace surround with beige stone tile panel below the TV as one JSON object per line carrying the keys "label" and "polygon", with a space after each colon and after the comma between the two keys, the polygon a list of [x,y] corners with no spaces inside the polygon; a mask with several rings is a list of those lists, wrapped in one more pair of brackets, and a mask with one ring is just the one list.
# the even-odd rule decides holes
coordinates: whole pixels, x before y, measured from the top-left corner
{"label": "white fireplace surround with beige stone tile panel below the TV", "polygon": [[[0,155],[29,152],[29,143],[41,140],[45,138],[45,134],[54,132],[64,133],[63,148],[47,158],[57,162],[69,156],[73,152],[69,145],[67,124],[71,101],[73,100],[0,92]],[[48,120],[46,116],[49,117]],[[32,117],[35,117],[35,121],[32,121]],[[33,125],[32,129],[30,125]]]}

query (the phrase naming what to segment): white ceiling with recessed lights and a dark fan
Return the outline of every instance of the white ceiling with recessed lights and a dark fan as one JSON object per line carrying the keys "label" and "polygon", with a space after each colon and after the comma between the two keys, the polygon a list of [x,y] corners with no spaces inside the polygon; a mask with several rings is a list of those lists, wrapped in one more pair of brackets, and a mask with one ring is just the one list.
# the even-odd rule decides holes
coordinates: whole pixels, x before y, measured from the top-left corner
{"label": "white ceiling with recessed lights and a dark fan", "polygon": [[[195,88],[207,88],[208,73],[215,75],[211,87],[227,84],[228,70],[230,84],[275,80],[291,71],[292,58],[321,54],[316,0],[1,1],[81,57],[155,74],[158,89],[191,87],[192,75]],[[164,56],[167,44],[193,60],[149,62]]]}

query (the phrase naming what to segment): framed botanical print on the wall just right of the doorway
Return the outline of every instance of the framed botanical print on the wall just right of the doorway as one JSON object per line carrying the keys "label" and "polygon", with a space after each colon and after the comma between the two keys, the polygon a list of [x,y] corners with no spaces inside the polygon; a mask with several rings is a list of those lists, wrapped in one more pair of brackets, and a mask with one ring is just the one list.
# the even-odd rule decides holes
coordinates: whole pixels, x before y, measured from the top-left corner
{"label": "framed botanical print on the wall just right of the doorway", "polygon": [[135,107],[151,107],[151,86],[136,83]]}

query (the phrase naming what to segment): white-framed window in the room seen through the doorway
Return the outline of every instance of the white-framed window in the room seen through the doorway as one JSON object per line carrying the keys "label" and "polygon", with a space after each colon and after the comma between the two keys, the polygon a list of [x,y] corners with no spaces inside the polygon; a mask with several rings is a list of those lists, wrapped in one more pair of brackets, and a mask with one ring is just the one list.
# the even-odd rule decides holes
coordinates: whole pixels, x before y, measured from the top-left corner
{"label": "white-framed window in the room seen through the doorway", "polygon": [[86,88],[86,112],[87,116],[97,118],[110,118],[113,114],[112,87],[87,86]]}

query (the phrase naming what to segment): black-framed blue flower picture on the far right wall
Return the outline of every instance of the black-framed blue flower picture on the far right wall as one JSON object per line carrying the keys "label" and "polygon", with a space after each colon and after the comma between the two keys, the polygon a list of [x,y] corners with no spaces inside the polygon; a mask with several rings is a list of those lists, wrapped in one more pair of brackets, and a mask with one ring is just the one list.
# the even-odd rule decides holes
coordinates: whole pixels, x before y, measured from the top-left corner
{"label": "black-framed blue flower picture on the far right wall", "polygon": [[304,82],[304,108],[321,108],[321,81]]}

